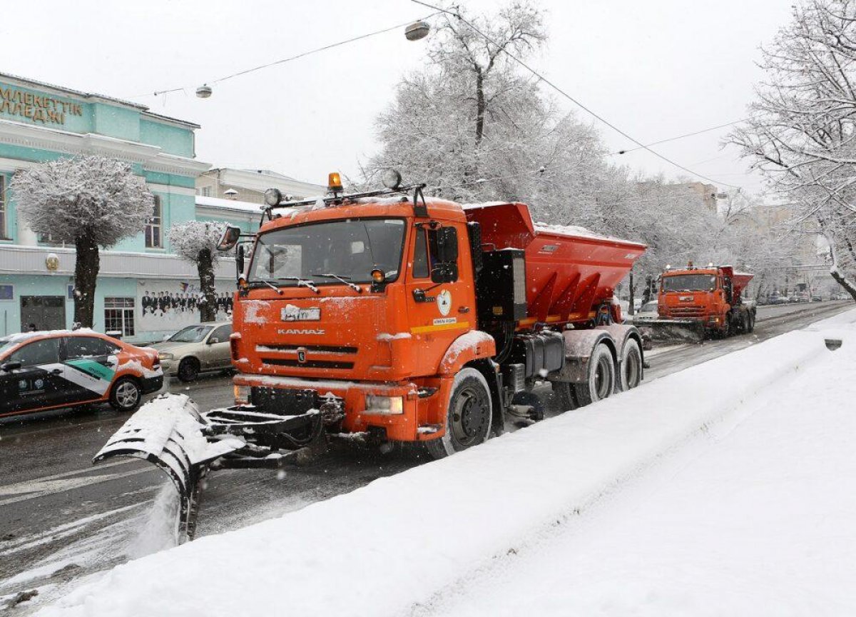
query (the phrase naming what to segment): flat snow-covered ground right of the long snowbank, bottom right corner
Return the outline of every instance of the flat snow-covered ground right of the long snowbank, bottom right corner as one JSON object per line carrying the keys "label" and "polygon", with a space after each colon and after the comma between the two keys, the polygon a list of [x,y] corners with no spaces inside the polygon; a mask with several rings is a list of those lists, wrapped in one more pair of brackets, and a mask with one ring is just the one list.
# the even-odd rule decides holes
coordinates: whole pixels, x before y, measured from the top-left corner
{"label": "flat snow-covered ground right of the long snowbank, bottom right corner", "polygon": [[431,614],[856,614],[856,331]]}

